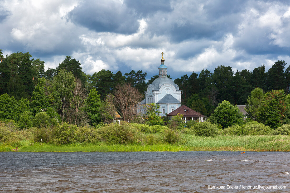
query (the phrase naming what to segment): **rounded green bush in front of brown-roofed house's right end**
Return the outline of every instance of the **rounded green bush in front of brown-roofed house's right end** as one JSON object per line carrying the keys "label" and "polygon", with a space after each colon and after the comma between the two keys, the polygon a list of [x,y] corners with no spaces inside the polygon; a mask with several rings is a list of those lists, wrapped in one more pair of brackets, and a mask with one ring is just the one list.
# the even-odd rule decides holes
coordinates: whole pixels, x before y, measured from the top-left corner
{"label": "rounded green bush in front of brown-roofed house's right end", "polygon": [[191,128],[192,132],[197,136],[216,136],[218,135],[218,127],[209,122],[197,122]]}

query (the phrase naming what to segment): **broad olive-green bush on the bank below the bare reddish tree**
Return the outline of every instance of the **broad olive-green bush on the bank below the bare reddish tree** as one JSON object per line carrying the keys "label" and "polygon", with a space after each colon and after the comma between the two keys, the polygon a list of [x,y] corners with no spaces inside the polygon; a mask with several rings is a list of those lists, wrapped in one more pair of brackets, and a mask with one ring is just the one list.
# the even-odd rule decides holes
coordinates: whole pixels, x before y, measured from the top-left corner
{"label": "broad olive-green bush on the bank below the bare reddish tree", "polygon": [[125,121],[120,124],[111,123],[97,128],[97,133],[100,141],[105,141],[109,144],[128,144],[141,141],[139,130]]}

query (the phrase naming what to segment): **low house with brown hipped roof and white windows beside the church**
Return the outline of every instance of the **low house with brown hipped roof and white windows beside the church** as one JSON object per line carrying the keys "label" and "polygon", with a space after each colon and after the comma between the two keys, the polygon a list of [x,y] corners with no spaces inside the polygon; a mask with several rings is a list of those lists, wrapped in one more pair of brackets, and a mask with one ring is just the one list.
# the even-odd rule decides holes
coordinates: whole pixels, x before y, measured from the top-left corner
{"label": "low house with brown hipped roof and white windows beside the church", "polygon": [[195,110],[192,110],[191,108],[185,105],[182,105],[181,107],[177,108],[171,113],[168,113],[167,116],[171,119],[173,116],[177,114],[183,115],[184,122],[188,122],[190,120],[199,121],[199,122],[205,121],[204,115],[200,114],[199,112],[196,112]]}

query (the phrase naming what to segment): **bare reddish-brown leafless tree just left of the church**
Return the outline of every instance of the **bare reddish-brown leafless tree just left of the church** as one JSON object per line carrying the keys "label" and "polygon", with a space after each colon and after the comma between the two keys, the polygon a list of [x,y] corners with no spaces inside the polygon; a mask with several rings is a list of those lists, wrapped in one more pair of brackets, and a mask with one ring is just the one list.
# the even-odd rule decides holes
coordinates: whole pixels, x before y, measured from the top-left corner
{"label": "bare reddish-brown leafless tree just left of the church", "polygon": [[137,114],[136,105],[142,100],[142,94],[132,87],[131,84],[117,85],[115,103],[120,108],[124,121],[131,121],[134,114]]}

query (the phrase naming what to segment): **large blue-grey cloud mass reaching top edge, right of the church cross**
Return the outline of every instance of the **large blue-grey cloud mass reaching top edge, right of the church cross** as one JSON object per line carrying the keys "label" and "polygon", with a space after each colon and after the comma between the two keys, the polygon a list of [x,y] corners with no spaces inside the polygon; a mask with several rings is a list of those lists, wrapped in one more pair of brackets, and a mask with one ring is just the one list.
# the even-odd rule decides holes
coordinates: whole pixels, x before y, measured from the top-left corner
{"label": "large blue-grey cloud mass reaching top edge, right of the church cross", "polygon": [[[156,15],[148,19],[148,31],[157,35],[168,35],[171,41],[178,43],[189,39],[220,40],[226,33],[237,32],[241,21],[243,3],[238,1],[206,1],[175,9],[170,14]],[[173,1],[174,3],[178,3]],[[175,14],[175,16],[174,16]],[[158,19],[163,18],[162,19]]]}

